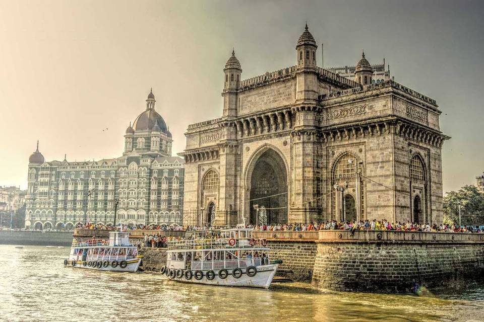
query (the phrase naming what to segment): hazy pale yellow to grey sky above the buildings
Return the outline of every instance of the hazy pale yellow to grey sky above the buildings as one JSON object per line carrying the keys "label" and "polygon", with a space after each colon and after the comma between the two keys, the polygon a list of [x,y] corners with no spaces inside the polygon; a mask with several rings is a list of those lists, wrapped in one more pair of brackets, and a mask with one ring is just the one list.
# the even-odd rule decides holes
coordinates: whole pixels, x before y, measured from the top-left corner
{"label": "hazy pale yellow to grey sky above the buildings", "polygon": [[364,48],[371,63],[386,58],[395,81],[436,99],[452,136],[444,191],[475,184],[483,15],[484,2],[462,0],[0,0],[0,185],[26,187],[37,139],[46,160],[120,156],[151,87],[173,153],[182,151],[188,124],[221,115],[232,47],[243,79],[294,65],[305,21],[325,67],[354,64]]}

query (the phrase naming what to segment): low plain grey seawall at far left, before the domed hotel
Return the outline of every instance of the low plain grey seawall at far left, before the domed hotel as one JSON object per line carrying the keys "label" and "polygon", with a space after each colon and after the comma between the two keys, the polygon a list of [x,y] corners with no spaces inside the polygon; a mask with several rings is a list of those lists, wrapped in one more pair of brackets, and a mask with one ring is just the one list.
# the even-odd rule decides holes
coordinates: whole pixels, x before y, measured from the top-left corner
{"label": "low plain grey seawall at far left, before the domed hotel", "polygon": [[72,231],[0,230],[0,244],[71,246]]}

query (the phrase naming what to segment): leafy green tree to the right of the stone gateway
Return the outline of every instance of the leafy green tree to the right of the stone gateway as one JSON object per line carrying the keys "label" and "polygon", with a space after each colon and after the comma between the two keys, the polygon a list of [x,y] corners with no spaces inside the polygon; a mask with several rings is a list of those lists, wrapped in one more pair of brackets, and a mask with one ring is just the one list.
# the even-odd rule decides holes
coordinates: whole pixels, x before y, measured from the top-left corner
{"label": "leafy green tree to the right of the stone gateway", "polygon": [[450,191],[444,197],[444,217],[459,224],[459,205],[462,225],[484,224],[484,194],[477,187],[468,185]]}

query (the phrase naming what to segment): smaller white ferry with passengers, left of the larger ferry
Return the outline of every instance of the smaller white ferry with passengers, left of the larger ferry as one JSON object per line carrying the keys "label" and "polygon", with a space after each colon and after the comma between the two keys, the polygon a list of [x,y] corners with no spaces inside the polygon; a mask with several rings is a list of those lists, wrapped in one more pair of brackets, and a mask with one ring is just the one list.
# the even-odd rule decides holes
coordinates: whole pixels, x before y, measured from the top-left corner
{"label": "smaller white ferry with passengers, left of the larger ferry", "polygon": [[138,255],[138,248],[130,244],[129,237],[129,232],[111,231],[109,239],[92,237],[75,240],[64,265],[99,271],[136,272],[143,256]]}

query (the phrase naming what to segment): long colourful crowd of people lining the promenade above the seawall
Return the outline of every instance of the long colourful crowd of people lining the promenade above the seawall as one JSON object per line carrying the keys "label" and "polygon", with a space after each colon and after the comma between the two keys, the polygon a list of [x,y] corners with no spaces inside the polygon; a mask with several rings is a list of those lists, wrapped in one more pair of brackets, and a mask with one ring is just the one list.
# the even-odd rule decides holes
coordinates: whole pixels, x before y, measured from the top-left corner
{"label": "long colourful crowd of people lining the promenade above the seawall", "polygon": [[[209,225],[196,226],[177,226],[177,225],[120,225],[123,230],[161,230],[161,231],[198,231],[210,230],[215,227]],[[119,228],[119,225],[117,226]],[[302,223],[285,223],[285,224],[269,224],[269,225],[246,225],[246,228],[253,228],[254,230],[268,230],[268,231],[315,231],[315,230],[395,230],[395,231],[421,231],[421,232],[473,232],[484,233],[482,226],[456,226],[451,224],[419,224],[415,222],[390,222],[383,220],[360,220],[360,221],[336,221],[330,220],[325,222],[311,222],[309,224]],[[106,229],[113,230],[112,224],[78,224],[76,228],[85,229]],[[216,229],[235,228],[232,226],[219,226]],[[156,235],[150,235],[153,238]],[[161,241],[162,242],[162,241]],[[160,240],[155,241],[156,245]]]}

